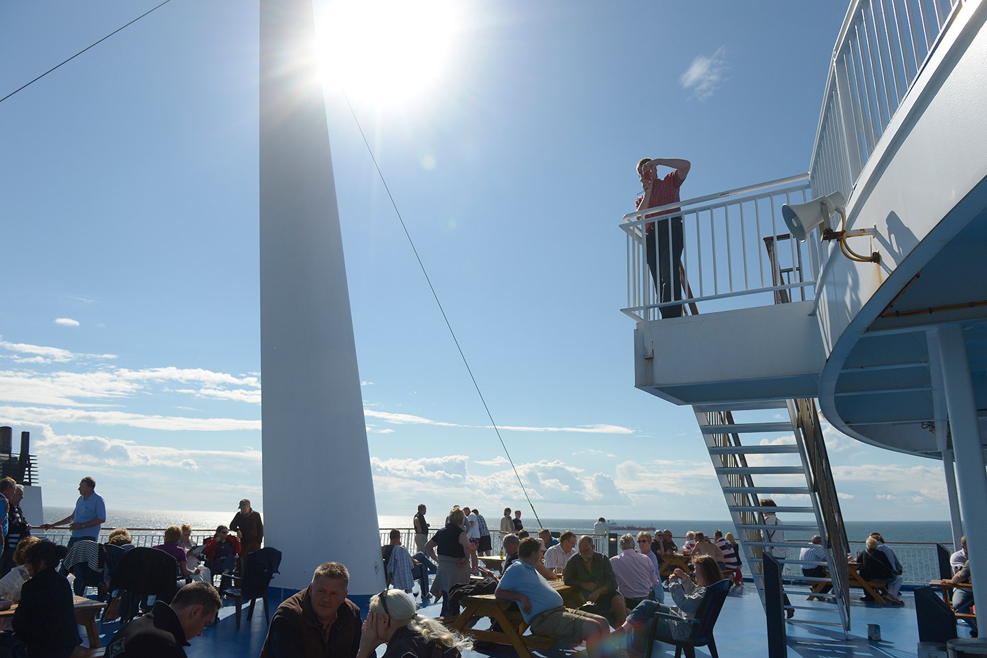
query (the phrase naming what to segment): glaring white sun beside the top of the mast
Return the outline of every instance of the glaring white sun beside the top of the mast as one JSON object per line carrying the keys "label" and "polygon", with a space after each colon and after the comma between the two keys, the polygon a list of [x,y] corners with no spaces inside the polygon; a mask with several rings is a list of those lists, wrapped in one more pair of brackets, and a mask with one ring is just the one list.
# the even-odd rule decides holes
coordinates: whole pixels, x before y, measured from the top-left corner
{"label": "glaring white sun beside the top of the mast", "polygon": [[332,0],[319,20],[326,84],[378,106],[407,104],[441,78],[458,27],[447,0]]}

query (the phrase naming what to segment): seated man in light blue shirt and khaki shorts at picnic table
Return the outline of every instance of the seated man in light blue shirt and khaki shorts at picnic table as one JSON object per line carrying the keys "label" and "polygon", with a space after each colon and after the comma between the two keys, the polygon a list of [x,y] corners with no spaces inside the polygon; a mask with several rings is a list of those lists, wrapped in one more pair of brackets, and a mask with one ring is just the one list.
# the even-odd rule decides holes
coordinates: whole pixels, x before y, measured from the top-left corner
{"label": "seated man in light blue shirt and khaki shorts at picnic table", "polygon": [[572,645],[585,640],[590,658],[601,656],[600,641],[610,634],[610,624],[598,615],[563,606],[562,596],[535,570],[538,551],[538,541],[525,538],[518,548],[519,558],[504,571],[493,595],[516,602],[532,633]]}

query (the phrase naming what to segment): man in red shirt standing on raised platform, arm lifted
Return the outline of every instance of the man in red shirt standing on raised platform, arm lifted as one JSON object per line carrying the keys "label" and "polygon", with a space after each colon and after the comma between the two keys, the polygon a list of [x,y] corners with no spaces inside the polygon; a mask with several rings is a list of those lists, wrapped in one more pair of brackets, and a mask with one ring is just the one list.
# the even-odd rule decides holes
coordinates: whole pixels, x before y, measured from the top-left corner
{"label": "man in red shirt standing on raised platform, arm lifted", "polygon": [[[679,187],[685,182],[692,165],[681,158],[643,159],[638,163],[638,176],[645,193],[638,197],[635,210],[656,208],[679,199]],[[663,179],[657,178],[656,167],[670,167],[674,171]],[[682,299],[682,215],[680,208],[668,208],[645,215],[645,219],[670,215],[667,219],[645,224],[645,254],[651,280],[658,293],[658,300],[670,302]],[[662,306],[662,318],[680,318],[682,305]]]}

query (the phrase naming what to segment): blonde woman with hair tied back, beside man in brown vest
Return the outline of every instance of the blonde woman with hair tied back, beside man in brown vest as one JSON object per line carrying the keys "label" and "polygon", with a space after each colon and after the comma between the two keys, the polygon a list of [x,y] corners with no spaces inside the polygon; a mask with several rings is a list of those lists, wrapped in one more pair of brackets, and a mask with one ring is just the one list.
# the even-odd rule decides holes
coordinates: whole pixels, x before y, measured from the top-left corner
{"label": "blonde woman with hair tied back, beside man in brown vest", "polygon": [[473,648],[469,638],[416,614],[415,599],[401,590],[384,590],[370,600],[356,658],[376,655],[381,644],[387,645],[382,658],[459,658]]}

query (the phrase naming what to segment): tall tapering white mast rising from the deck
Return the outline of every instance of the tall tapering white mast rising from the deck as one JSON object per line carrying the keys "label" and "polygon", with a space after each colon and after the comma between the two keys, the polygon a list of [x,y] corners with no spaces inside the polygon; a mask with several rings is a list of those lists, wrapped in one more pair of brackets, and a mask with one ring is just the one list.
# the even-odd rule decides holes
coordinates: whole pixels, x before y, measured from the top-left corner
{"label": "tall tapering white mast rising from the deck", "polygon": [[384,587],[340,215],[310,0],[261,0],[261,366],[274,586],[339,561]]}

